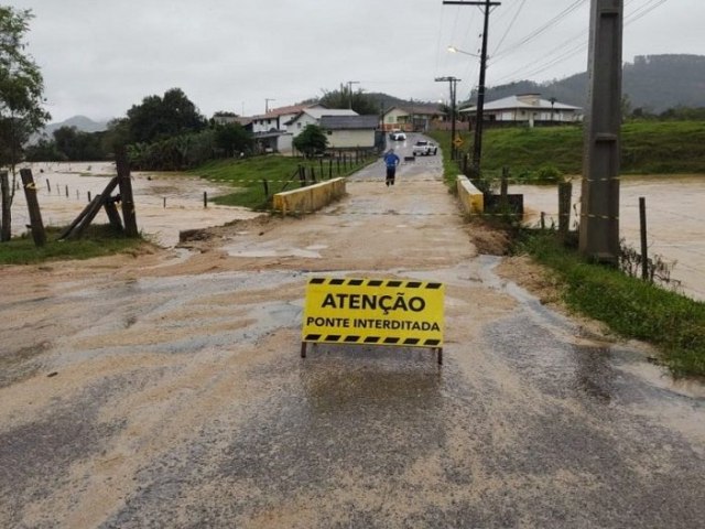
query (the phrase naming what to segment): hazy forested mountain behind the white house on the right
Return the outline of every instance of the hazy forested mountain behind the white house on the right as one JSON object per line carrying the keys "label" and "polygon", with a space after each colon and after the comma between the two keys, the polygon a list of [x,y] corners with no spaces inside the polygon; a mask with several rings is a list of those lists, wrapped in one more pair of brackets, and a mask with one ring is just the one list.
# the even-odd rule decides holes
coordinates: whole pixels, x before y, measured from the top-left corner
{"label": "hazy forested mountain behind the white house on the right", "polygon": [[[488,87],[485,100],[533,93],[585,107],[587,83],[587,73],[549,83],[521,80]],[[677,106],[705,107],[705,56],[639,55],[622,68],[622,93],[629,97],[632,110],[660,114]]]}

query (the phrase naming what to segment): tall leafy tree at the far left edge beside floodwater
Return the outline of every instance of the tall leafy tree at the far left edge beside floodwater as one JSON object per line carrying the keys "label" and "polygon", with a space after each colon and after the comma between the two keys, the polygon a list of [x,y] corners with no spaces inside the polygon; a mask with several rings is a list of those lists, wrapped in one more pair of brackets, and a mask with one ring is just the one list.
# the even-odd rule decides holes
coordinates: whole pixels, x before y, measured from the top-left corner
{"label": "tall leafy tree at the far left edge beside floodwater", "polygon": [[24,34],[32,20],[30,10],[0,6],[0,168],[10,168],[12,184],[1,186],[0,240],[12,236],[11,206],[22,161],[23,145],[50,119],[42,108],[44,80],[33,58],[24,53]]}

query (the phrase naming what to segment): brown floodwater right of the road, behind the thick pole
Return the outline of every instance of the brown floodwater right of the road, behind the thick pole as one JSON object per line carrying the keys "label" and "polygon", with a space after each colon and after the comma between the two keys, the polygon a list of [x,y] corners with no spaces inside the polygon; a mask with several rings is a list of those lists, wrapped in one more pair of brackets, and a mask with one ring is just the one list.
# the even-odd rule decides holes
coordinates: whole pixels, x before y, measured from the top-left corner
{"label": "brown floodwater right of the road, behind the thick pole", "polygon": [[[558,194],[555,186],[514,185],[510,193],[524,195],[525,220],[538,225],[541,212],[546,224],[557,225]],[[639,250],[639,197],[647,203],[649,256],[671,264],[671,278],[680,292],[705,300],[705,175],[625,176],[620,181],[620,237]],[[581,204],[581,180],[573,180],[574,207],[571,228]]]}

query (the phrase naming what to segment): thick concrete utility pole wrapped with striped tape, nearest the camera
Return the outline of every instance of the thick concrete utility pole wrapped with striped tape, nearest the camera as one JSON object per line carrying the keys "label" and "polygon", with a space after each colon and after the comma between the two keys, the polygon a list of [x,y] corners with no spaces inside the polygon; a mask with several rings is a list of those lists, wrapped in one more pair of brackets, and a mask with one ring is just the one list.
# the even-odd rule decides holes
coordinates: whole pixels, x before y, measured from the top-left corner
{"label": "thick concrete utility pole wrapped with striped tape, nearest the camera", "polygon": [[619,138],[623,0],[592,0],[589,96],[585,123],[579,251],[619,258]]}

